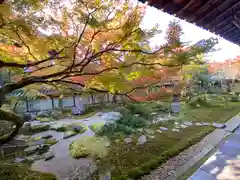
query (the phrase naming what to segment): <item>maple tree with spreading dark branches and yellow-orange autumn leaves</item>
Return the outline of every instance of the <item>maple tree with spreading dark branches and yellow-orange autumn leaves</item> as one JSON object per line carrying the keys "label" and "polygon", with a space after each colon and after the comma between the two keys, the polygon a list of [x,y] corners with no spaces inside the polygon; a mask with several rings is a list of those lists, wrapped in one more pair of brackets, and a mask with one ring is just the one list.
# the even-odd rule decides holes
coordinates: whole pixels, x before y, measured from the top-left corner
{"label": "maple tree with spreading dark branches and yellow-orange autumn leaves", "polygon": [[[2,1],[0,68],[11,70],[13,77],[0,88],[0,105],[18,89],[69,88],[132,99],[131,92],[149,85],[136,86],[134,80],[164,67],[197,63],[196,56],[215,45],[210,39],[205,46],[166,43],[152,50],[149,39],[160,30],[141,27],[145,8],[118,0]],[[0,109],[0,120],[16,126],[0,140],[3,145],[18,134],[23,119]]]}

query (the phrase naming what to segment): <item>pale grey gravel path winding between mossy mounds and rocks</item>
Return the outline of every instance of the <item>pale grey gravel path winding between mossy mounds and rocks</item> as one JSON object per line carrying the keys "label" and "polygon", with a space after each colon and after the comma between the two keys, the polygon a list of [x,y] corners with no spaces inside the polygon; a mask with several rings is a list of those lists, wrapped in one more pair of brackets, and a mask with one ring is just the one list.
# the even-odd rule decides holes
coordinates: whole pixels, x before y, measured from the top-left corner
{"label": "pale grey gravel path winding between mossy mounds and rocks", "polygon": [[[41,123],[41,124],[72,124],[72,123],[83,123],[86,126],[89,126],[94,123],[106,121],[100,116],[93,116],[86,119],[81,120],[73,120],[73,119],[64,119],[59,120],[57,122],[50,123]],[[36,122],[34,122],[35,124]],[[69,155],[69,145],[79,139],[81,136],[93,136],[94,132],[92,132],[89,128],[83,133],[78,134],[76,136],[70,137],[68,139],[63,139],[62,132],[55,131],[45,131],[42,133],[35,134],[34,136],[44,136],[51,134],[53,138],[60,140],[57,144],[53,145],[50,149],[55,155],[55,158],[44,161],[39,160],[32,164],[32,169],[43,172],[51,172],[57,175],[60,180],[87,180],[89,179],[89,175],[91,175],[96,170],[96,165],[90,158],[81,158],[81,159],[73,159]]]}

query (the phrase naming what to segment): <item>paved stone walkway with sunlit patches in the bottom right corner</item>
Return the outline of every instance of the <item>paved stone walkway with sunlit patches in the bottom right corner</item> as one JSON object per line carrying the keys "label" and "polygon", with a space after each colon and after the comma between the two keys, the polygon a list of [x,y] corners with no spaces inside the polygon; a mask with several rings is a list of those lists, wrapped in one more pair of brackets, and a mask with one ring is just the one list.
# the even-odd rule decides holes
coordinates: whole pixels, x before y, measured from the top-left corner
{"label": "paved stone walkway with sunlit patches in the bottom right corner", "polygon": [[240,180],[240,128],[188,180]]}

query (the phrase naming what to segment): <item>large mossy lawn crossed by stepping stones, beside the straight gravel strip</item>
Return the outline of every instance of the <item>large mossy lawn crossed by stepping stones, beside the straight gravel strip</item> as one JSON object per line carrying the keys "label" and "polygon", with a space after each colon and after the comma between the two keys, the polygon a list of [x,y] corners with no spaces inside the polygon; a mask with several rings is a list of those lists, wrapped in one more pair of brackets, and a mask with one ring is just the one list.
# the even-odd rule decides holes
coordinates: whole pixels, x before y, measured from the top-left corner
{"label": "large mossy lawn crossed by stepping stones, beside the straight gravel strip", "polygon": [[[183,113],[176,121],[224,123],[240,111],[240,104],[228,102],[212,108],[204,105],[193,108],[183,104],[182,109]],[[171,129],[174,126],[174,121],[152,125],[148,128],[156,130],[159,126]],[[108,155],[99,162],[99,167],[104,168],[104,166],[109,165],[113,167],[111,171],[113,180],[125,180],[129,177],[136,179],[149,173],[184,149],[196,144],[213,130],[214,128],[211,126],[189,126],[181,129],[180,132],[168,130],[163,133],[155,133],[155,139],[148,139],[142,146],[136,145],[135,140],[143,133],[135,132],[133,134],[135,140],[130,144],[122,141],[115,142],[114,139],[119,139],[119,135],[113,134]]]}

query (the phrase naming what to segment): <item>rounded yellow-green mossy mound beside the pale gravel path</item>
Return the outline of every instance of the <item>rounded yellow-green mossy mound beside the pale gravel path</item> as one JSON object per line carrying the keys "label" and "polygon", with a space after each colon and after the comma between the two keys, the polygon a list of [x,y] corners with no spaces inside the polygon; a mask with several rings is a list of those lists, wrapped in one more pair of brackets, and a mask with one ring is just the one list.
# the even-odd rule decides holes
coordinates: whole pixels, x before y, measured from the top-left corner
{"label": "rounded yellow-green mossy mound beside the pale gravel path", "polygon": [[83,136],[70,145],[70,154],[74,158],[86,157],[103,158],[107,155],[109,141],[106,138]]}

